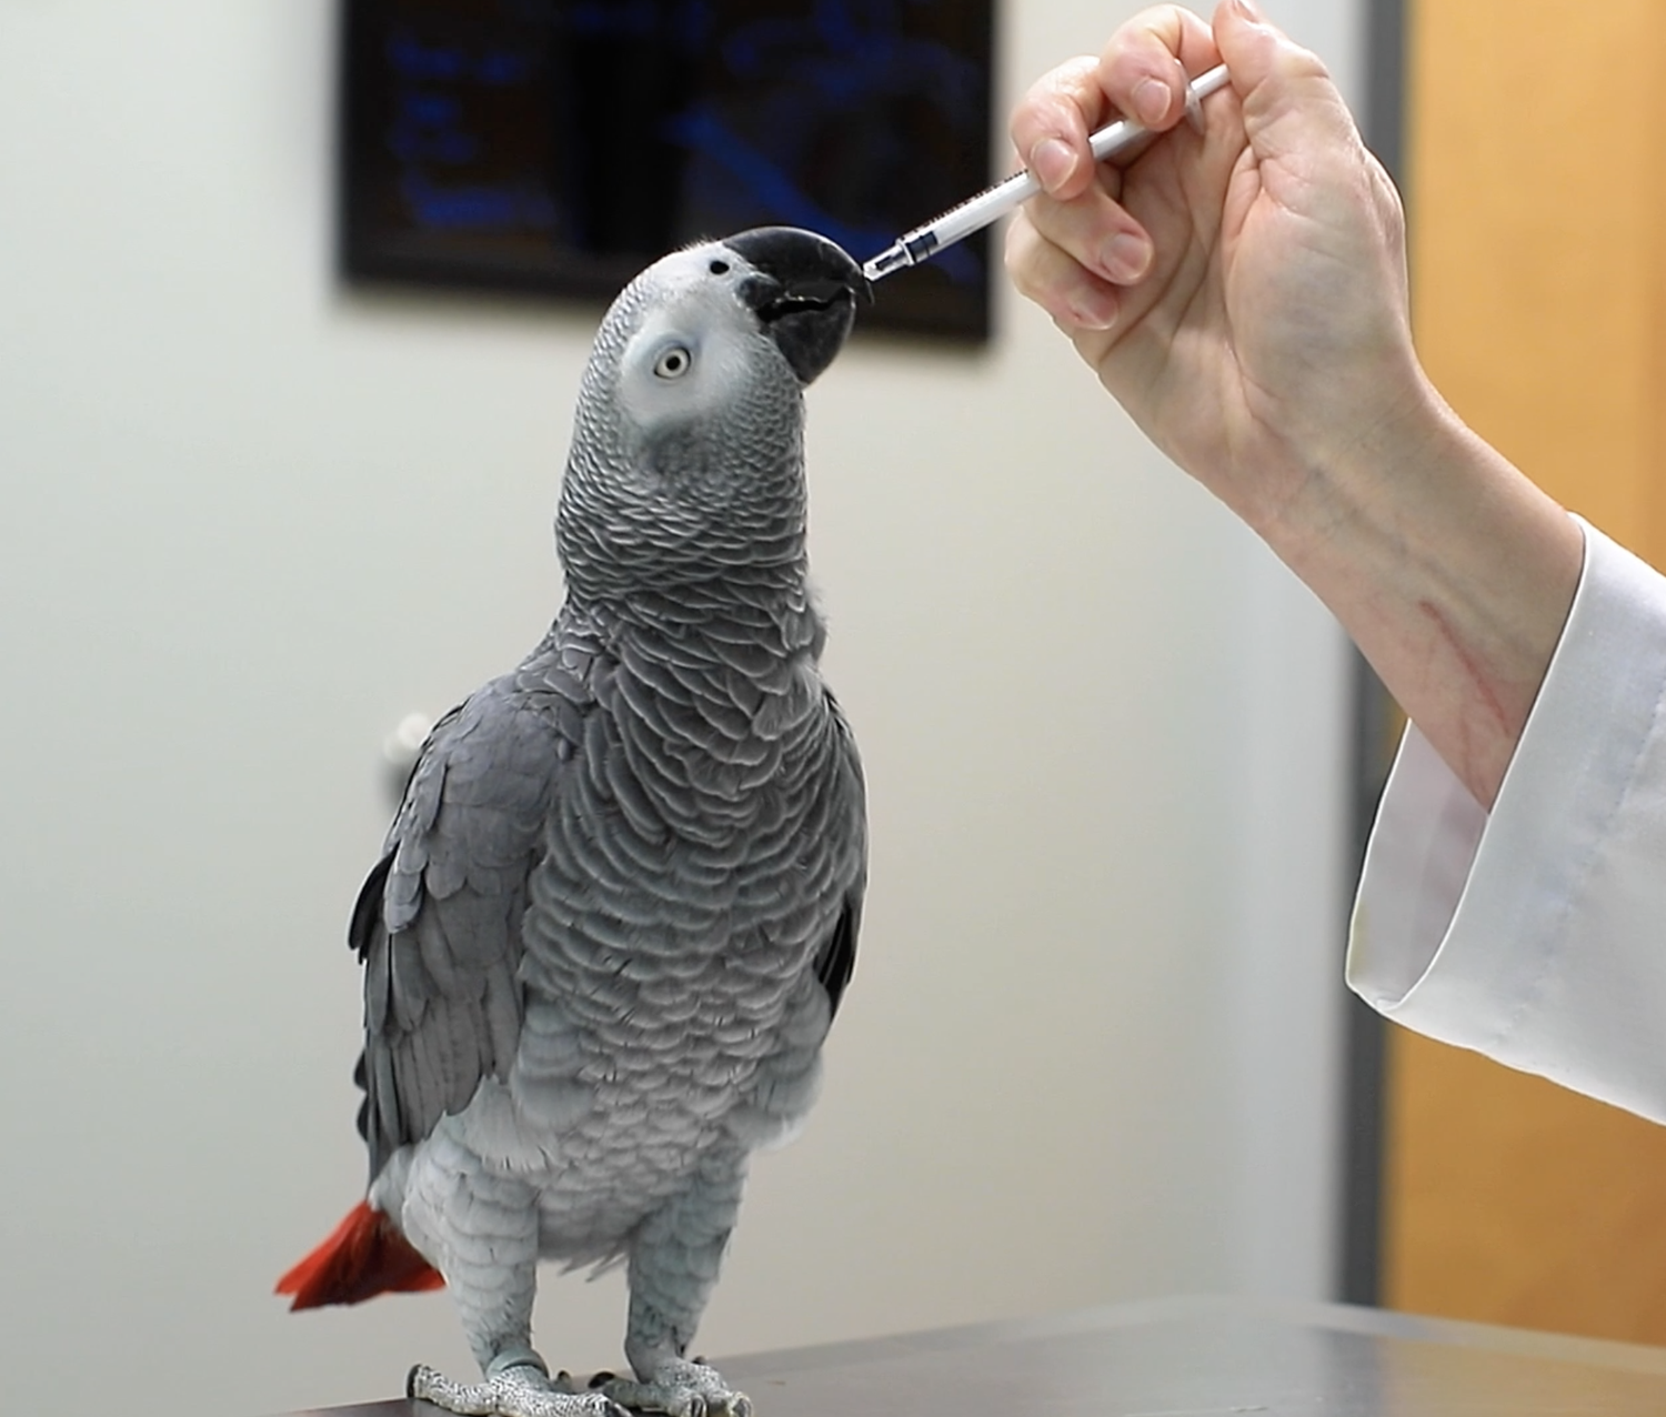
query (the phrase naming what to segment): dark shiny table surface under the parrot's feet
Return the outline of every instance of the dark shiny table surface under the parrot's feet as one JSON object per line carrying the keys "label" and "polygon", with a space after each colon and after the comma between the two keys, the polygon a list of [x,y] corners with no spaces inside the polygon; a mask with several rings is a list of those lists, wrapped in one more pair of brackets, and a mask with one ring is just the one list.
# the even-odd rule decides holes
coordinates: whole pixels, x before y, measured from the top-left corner
{"label": "dark shiny table surface under the parrot's feet", "polygon": [[[751,1395],[758,1417],[1666,1414],[1666,1349],[1243,1299],[1120,1304],[718,1367]],[[435,1412],[400,1400],[293,1417]]]}

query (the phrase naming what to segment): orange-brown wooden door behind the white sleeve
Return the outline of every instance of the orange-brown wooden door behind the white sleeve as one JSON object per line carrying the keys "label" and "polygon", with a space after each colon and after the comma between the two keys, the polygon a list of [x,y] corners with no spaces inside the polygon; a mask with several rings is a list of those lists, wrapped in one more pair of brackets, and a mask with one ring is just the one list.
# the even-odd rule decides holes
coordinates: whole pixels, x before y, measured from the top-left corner
{"label": "orange-brown wooden door behind the white sleeve", "polygon": [[[1424,361],[1553,496],[1666,568],[1666,5],[1408,18]],[[1399,1029],[1386,1126],[1386,1304],[1666,1344],[1666,1127]]]}

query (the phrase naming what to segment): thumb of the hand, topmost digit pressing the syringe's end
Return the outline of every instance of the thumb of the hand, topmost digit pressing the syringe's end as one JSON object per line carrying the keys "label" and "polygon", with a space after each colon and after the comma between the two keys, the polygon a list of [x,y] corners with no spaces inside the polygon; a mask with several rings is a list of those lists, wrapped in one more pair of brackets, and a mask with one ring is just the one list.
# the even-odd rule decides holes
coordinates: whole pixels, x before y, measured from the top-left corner
{"label": "thumb of the hand, topmost digit pressing the syringe's end", "polygon": [[1329,70],[1274,27],[1256,0],[1223,0],[1213,28],[1258,157],[1358,137]]}

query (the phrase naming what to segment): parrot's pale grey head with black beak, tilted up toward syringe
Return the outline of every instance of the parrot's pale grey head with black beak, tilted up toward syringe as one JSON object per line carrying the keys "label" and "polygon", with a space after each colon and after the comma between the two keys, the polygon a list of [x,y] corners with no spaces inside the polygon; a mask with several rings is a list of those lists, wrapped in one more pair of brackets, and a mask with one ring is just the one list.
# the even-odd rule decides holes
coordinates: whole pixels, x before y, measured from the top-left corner
{"label": "parrot's pale grey head with black beak, tilted up toward syringe", "polygon": [[601,320],[556,543],[568,591],[801,561],[803,391],[868,293],[833,241],[763,226],[673,251]]}

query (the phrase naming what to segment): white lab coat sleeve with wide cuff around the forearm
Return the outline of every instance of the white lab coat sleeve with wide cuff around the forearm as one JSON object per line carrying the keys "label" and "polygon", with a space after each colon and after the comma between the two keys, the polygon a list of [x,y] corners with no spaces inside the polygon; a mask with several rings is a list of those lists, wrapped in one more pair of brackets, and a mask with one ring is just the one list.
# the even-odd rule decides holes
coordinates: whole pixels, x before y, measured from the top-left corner
{"label": "white lab coat sleeve with wide cuff around the forearm", "polygon": [[1666,1121],[1666,578],[1581,528],[1491,814],[1408,728],[1348,982],[1418,1032]]}

